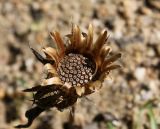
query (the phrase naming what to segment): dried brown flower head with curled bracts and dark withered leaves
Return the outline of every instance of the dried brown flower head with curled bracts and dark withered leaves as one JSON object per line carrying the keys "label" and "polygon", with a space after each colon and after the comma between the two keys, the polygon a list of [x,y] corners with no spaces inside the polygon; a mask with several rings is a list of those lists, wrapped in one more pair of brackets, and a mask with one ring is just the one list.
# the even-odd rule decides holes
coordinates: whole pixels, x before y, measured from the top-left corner
{"label": "dried brown flower head with curled bracts and dark withered leaves", "polygon": [[106,44],[107,31],[103,31],[95,43],[92,25],[89,25],[88,33],[81,32],[77,25],[73,25],[66,43],[59,32],[50,33],[50,36],[55,40],[57,48],[43,48],[45,58],[31,48],[47,69],[47,78],[41,85],[24,90],[34,93],[35,107],[25,114],[28,123],[18,125],[17,128],[30,126],[44,110],[56,107],[61,111],[73,106],[78,98],[99,90],[110,71],[120,67],[113,64],[121,57],[120,53],[106,58],[111,52]]}

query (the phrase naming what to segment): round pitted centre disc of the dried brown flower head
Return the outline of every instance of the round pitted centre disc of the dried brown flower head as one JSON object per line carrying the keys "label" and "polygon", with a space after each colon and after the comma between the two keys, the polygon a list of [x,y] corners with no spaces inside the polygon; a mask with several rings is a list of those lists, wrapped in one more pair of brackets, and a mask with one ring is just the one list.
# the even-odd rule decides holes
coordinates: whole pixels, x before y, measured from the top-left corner
{"label": "round pitted centre disc of the dried brown flower head", "polygon": [[72,86],[83,85],[92,79],[95,63],[81,54],[70,53],[58,64],[57,72],[62,82]]}

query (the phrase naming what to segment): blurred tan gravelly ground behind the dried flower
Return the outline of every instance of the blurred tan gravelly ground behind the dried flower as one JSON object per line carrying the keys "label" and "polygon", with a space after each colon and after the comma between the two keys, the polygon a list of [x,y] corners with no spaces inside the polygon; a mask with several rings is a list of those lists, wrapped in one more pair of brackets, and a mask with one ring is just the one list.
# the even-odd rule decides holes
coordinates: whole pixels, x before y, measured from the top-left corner
{"label": "blurred tan gravelly ground behind the dried flower", "polygon": [[26,122],[32,94],[22,90],[44,78],[29,44],[41,53],[53,45],[49,32],[64,36],[72,22],[83,31],[92,23],[95,39],[107,29],[122,69],[78,101],[74,128],[69,109],[52,109],[29,129],[160,129],[159,0],[0,0],[0,129]]}

